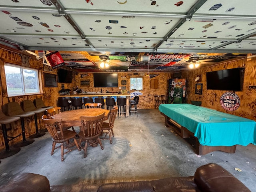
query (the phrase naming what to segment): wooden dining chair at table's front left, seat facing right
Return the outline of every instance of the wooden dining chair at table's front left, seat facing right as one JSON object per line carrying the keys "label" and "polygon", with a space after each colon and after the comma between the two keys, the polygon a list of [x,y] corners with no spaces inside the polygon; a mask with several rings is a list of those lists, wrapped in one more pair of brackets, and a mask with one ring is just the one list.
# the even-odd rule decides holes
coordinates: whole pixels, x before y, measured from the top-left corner
{"label": "wooden dining chair at table's front left, seat facing right", "polygon": [[[61,119],[48,119],[46,115],[42,116],[42,122],[45,124],[48,132],[52,136],[52,152],[53,155],[54,150],[57,148],[61,148],[61,161],[64,161],[64,154],[71,152],[74,149],[78,149],[80,151],[80,147],[78,146],[78,142],[76,141],[76,132],[71,130],[63,131],[61,125]],[[69,141],[70,139],[74,140],[74,145],[72,145]],[[60,146],[56,147],[56,143],[60,143]],[[64,152],[64,149],[67,151]]]}

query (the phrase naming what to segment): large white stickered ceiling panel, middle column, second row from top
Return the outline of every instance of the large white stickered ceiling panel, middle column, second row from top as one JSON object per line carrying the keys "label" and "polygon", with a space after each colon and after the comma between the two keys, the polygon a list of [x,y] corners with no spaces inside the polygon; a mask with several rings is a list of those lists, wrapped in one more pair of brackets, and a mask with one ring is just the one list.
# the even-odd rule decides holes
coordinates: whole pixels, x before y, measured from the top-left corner
{"label": "large white stickered ceiling panel, middle column, second row from top", "polygon": [[[86,36],[162,38],[179,18],[142,16],[71,15]],[[150,22],[149,22],[150,21]]]}

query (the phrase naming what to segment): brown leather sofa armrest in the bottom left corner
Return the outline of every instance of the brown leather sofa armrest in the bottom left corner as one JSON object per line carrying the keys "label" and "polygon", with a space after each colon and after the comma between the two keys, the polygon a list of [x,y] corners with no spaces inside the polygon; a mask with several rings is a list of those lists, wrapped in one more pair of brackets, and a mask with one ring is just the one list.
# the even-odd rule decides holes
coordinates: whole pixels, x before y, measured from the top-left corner
{"label": "brown leather sofa armrest in the bottom left corner", "polygon": [[22,173],[14,177],[1,192],[49,192],[49,180],[40,174]]}

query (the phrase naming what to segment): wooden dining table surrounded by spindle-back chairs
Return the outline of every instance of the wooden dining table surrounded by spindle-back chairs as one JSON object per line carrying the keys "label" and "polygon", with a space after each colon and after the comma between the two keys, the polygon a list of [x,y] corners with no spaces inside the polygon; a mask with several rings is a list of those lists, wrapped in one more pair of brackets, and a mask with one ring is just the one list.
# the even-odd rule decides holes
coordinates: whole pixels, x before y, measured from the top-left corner
{"label": "wooden dining table surrounded by spindle-back chairs", "polygon": [[62,126],[81,126],[80,116],[98,116],[104,112],[104,120],[107,120],[110,110],[102,108],[85,108],[64,111],[52,116],[52,118],[60,118],[62,120]]}

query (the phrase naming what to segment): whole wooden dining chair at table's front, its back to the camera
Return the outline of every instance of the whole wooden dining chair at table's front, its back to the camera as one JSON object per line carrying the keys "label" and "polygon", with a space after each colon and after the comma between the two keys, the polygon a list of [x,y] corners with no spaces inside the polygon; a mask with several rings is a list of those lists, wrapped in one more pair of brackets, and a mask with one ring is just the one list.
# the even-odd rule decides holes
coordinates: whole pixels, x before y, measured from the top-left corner
{"label": "whole wooden dining chair at table's front, its back to the camera", "polygon": [[[103,150],[103,146],[100,140],[101,127],[103,124],[105,112],[98,116],[80,116],[82,128],[78,133],[78,136],[81,138],[79,146],[82,148],[81,143],[85,141],[84,145],[84,158],[87,155],[87,147],[94,146],[100,144],[101,149]],[[89,142],[90,141],[90,142]]]}

